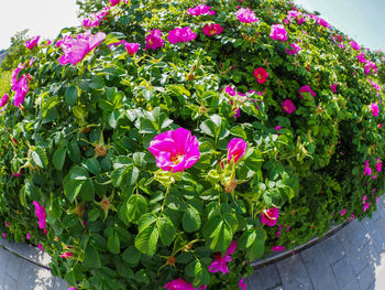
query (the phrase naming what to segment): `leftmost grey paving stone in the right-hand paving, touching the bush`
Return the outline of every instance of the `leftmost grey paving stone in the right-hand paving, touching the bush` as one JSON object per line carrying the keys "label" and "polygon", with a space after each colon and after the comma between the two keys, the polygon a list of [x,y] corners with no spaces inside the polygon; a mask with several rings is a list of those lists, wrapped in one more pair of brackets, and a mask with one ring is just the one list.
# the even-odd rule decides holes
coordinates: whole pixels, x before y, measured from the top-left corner
{"label": "leftmost grey paving stone in the right-hand paving, touching the bush", "polygon": [[255,270],[248,280],[251,290],[265,290],[282,284],[275,264]]}

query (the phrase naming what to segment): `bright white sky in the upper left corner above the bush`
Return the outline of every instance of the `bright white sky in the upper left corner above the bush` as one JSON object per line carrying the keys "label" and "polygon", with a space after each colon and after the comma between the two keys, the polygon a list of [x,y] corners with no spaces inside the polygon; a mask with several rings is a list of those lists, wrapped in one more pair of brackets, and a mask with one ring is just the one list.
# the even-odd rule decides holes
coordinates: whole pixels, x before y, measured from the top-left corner
{"label": "bright white sky in the upper left corner above the bush", "polygon": [[24,29],[30,37],[54,39],[63,28],[80,24],[76,0],[0,0],[0,50]]}

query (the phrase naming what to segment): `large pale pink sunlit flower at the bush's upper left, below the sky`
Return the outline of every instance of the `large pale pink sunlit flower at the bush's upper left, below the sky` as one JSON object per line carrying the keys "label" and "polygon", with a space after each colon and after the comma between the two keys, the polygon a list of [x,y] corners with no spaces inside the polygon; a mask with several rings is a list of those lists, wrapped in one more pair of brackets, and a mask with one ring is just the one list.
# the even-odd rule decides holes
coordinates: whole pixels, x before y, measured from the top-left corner
{"label": "large pale pink sunlit flower at the bush's upper left, below the sky", "polygon": [[56,47],[63,50],[62,56],[58,58],[61,65],[79,63],[89,52],[98,46],[106,39],[106,34],[98,32],[91,35],[89,31],[73,36],[64,36],[56,43]]}

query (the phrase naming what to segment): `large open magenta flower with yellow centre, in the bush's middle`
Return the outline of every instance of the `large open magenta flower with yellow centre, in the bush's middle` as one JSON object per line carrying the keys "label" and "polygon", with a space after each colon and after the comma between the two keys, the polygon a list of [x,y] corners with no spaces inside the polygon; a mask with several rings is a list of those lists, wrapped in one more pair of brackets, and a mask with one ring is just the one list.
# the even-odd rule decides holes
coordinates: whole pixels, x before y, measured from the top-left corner
{"label": "large open magenta flower with yellow centre, in the bush's middle", "polygon": [[191,168],[200,157],[197,137],[184,128],[156,136],[148,151],[154,154],[156,167],[173,172]]}

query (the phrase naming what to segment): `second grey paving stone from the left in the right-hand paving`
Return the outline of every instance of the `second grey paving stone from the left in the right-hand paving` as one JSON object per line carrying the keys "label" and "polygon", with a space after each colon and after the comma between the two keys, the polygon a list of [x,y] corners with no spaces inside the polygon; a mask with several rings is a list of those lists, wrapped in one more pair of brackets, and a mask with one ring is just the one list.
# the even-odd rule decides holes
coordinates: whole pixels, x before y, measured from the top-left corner
{"label": "second grey paving stone from the left in the right-hand paving", "polygon": [[299,255],[278,261],[277,268],[285,290],[314,290]]}

